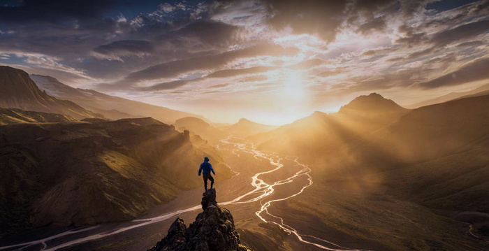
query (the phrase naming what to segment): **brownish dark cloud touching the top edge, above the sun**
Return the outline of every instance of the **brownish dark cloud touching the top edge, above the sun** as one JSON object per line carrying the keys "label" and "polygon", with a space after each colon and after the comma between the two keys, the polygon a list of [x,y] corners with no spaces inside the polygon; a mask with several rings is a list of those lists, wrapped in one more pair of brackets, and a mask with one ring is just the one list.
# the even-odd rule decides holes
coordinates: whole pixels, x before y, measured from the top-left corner
{"label": "brownish dark cloud touching the top edge, above the sun", "polygon": [[317,34],[324,41],[333,41],[345,22],[357,25],[358,32],[367,34],[386,28],[384,15],[401,12],[411,17],[426,4],[425,0],[262,1],[267,6],[268,21],[273,27],[291,27],[296,34]]}

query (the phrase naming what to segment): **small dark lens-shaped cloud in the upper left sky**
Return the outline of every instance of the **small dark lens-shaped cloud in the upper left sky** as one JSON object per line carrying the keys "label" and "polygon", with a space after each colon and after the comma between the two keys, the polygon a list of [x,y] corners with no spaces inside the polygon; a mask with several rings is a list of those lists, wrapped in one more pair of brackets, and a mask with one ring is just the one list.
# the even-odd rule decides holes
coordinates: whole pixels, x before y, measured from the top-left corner
{"label": "small dark lens-shaped cloud in the upper left sky", "polygon": [[94,48],[94,52],[103,55],[119,55],[119,54],[139,54],[154,52],[154,46],[149,41],[141,40],[122,40],[100,45]]}

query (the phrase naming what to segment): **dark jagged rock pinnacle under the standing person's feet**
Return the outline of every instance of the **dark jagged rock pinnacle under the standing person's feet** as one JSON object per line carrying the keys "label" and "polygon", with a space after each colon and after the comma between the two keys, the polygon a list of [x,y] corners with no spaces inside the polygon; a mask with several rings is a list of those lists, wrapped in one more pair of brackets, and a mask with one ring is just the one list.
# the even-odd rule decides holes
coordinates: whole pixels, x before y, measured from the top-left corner
{"label": "dark jagged rock pinnacle under the standing person's feet", "polygon": [[249,250],[240,244],[233,215],[216,202],[216,190],[207,190],[202,197],[202,213],[189,228],[179,217],[168,229],[168,234],[148,251],[220,251]]}

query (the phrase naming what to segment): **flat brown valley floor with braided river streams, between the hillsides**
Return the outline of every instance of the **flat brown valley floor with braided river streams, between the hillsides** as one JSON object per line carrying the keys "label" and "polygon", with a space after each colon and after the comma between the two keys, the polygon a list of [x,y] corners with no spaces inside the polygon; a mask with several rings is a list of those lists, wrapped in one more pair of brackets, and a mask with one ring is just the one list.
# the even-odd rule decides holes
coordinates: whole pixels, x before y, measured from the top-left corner
{"label": "flat brown valley floor with braided river streams, between the hillsides", "polygon": [[[469,236],[469,224],[395,199],[385,187],[363,187],[334,178],[321,182],[315,177],[323,173],[317,173],[315,166],[253,151],[249,144],[221,143],[219,149],[236,173],[216,183],[217,201],[231,210],[242,243],[254,250],[489,248],[486,241]],[[146,250],[166,236],[177,216],[187,224],[194,221],[201,210],[202,192],[203,188],[182,192],[131,222],[8,236],[0,239],[0,250]]]}

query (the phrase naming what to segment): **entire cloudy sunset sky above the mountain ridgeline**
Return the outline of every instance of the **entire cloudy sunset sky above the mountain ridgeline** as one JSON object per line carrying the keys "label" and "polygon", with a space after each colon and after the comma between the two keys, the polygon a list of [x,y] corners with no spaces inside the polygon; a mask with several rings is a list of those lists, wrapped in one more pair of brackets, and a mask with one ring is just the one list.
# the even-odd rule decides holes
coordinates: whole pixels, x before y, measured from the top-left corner
{"label": "entire cloudy sunset sky above the mountain ridgeline", "polygon": [[489,0],[0,0],[0,64],[204,115],[282,124],[378,92],[489,83]]}

